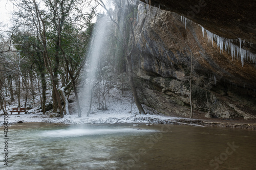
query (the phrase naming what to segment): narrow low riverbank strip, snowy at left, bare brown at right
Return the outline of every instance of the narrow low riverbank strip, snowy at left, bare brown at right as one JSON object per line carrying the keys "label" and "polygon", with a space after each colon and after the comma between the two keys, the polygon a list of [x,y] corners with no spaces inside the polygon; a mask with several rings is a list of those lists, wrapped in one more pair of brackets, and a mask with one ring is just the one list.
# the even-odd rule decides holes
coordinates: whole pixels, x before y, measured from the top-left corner
{"label": "narrow low riverbank strip, snowy at left, bare brown at right", "polygon": [[[256,130],[255,120],[244,119],[190,119],[184,117],[171,117],[161,114],[147,114],[147,115],[131,115],[127,114],[106,114],[98,112],[90,114],[89,116],[82,115],[66,115],[63,118],[50,117],[51,114],[29,113],[29,114],[12,114],[8,115],[8,124],[15,125],[16,123],[54,123],[54,124],[68,124],[68,125],[81,125],[81,124],[174,124],[186,126],[205,126],[205,127],[226,127]],[[4,116],[0,117],[0,123],[3,125]]]}

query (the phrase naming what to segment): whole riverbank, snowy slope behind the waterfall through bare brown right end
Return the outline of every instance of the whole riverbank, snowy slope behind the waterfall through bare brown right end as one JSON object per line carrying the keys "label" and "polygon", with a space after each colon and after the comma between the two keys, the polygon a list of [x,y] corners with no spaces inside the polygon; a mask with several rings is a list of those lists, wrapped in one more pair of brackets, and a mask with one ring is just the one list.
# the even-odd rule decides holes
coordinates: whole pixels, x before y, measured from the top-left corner
{"label": "whole riverbank, snowy slope behind the waterfall through bare brown right end", "polygon": [[[70,98],[74,100],[74,95]],[[49,99],[50,96],[49,96]],[[114,88],[111,90],[111,95],[107,96],[108,110],[98,110],[97,105],[92,105],[91,112],[87,116],[88,105],[81,98],[82,105],[82,116],[78,117],[76,103],[72,102],[69,104],[70,115],[65,115],[63,118],[58,117],[57,113],[53,113],[52,110],[42,114],[40,112],[39,99],[29,101],[31,109],[28,113],[24,112],[17,114],[16,112],[8,114],[8,124],[14,125],[18,122],[29,123],[57,123],[67,125],[79,125],[79,124],[121,124],[121,123],[132,123],[132,124],[178,124],[178,125],[189,125],[189,126],[210,126],[210,127],[227,127],[227,128],[239,128],[239,129],[251,129],[256,130],[256,120],[243,118],[234,119],[221,119],[221,118],[206,118],[205,113],[195,112],[193,119],[186,117],[177,117],[177,115],[166,116],[156,110],[143,105],[147,115],[138,114],[138,109],[134,102],[131,101],[132,93],[126,92],[121,94],[120,90]],[[48,101],[50,103],[50,101]],[[17,107],[17,102],[13,102],[8,110]],[[0,125],[3,126],[4,115],[0,112]]]}

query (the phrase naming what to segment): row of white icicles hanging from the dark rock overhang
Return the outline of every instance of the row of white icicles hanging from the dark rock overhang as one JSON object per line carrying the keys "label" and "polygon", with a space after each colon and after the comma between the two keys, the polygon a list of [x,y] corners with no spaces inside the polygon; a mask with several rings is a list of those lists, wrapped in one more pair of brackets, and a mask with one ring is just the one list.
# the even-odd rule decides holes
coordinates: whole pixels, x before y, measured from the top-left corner
{"label": "row of white icicles hanging from the dark rock overhang", "polygon": [[[186,22],[190,21],[190,23],[192,23],[192,21],[184,16],[181,16],[181,21],[184,23],[185,28],[186,28]],[[214,41],[216,41],[217,46],[220,48],[220,52],[222,53],[223,50],[226,52],[231,53],[232,56],[232,60],[233,58],[241,58],[241,62],[242,62],[242,66],[244,65],[244,60],[250,60],[253,63],[256,63],[256,54],[251,53],[248,50],[243,49],[241,46],[242,44],[245,43],[245,40],[241,40],[240,38],[238,38],[238,40],[234,40],[234,39],[228,39],[228,38],[224,38],[221,37],[219,35],[216,35],[208,30],[206,30],[205,28],[203,28],[201,25],[199,25],[202,28],[202,33],[204,36],[204,32],[206,31],[207,34],[207,38],[209,43],[211,43],[212,45],[214,44]],[[240,46],[235,45],[233,42],[234,41],[239,41]]]}

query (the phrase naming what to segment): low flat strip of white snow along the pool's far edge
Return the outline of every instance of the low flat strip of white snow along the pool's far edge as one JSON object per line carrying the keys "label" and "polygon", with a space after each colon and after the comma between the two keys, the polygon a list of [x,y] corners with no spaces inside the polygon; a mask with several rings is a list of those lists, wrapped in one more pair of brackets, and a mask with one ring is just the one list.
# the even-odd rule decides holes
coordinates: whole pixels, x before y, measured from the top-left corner
{"label": "low flat strip of white snow along the pool's far edge", "polygon": [[[4,116],[1,116],[4,120]],[[0,117],[0,118],[1,118]],[[1,125],[3,124],[3,120],[1,119]],[[51,118],[49,115],[43,115],[41,113],[35,114],[14,114],[8,116],[8,122],[17,123],[20,120],[22,122],[46,122],[46,123],[62,123],[62,124],[113,124],[113,123],[166,123],[179,120],[178,117],[169,117],[163,115],[131,115],[129,113],[126,114],[118,114],[118,113],[95,113],[90,114],[89,116],[82,115],[82,117],[78,117],[77,115],[65,115],[65,117],[54,117]]]}

